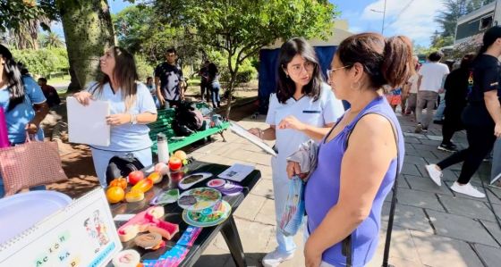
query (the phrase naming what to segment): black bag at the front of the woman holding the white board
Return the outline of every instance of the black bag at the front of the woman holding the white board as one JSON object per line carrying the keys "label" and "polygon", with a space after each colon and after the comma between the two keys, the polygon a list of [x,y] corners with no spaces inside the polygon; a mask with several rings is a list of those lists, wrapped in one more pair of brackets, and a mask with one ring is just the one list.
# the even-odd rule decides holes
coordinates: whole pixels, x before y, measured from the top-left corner
{"label": "black bag at the front of the woman holding the white board", "polygon": [[144,166],[132,153],[115,155],[106,168],[106,184],[116,178],[127,177],[132,171],[140,171]]}

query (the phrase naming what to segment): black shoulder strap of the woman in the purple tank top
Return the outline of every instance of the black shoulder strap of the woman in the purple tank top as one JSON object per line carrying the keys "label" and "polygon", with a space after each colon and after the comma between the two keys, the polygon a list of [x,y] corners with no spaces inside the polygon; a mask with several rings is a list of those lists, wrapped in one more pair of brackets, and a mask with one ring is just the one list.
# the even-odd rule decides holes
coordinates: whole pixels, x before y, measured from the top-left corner
{"label": "black shoulder strap of the woman in the purple tank top", "polygon": [[[368,115],[368,114],[372,114],[372,113],[365,113],[363,114],[358,121],[361,120],[361,118],[365,115]],[[395,171],[395,182],[393,184],[393,196],[392,196],[392,202],[391,202],[391,205],[390,205],[390,214],[389,214],[389,218],[388,218],[388,226],[387,226],[387,229],[386,229],[386,241],[385,241],[385,250],[384,250],[384,254],[383,254],[383,264],[382,266],[383,267],[388,267],[388,266],[391,266],[388,264],[388,257],[389,257],[389,254],[390,254],[390,244],[391,244],[391,235],[392,235],[392,230],[393,230],[393,219],[394,219],[394,216],[395,216],[395,207],[396,207],[396,189],[398,188],[397,185],[398,185],[398,173],[400,171],[400,158],[401,158],[401,155],[400,155],[400,151],[398,149],[398,144],[399,144],[399,139],[398,139],[398,132],[396,130],[396,127],[395,127],[395,124],[393,123],[393,121],[386,117],[385,115],[383,114],[380,114],[380,113],[377,113],[378,115],[381,115],[383,117],[386,118],[386,120],[388,120],[392,126],[392,129],[393,129],[393,134],[394,134],[394,137],[395,137],[395,145],[396,145],[396,171]],[[344,141],[344,146],[345,148],[348,147],[348,139],[350,138],[350,136],[352,135],[352,130],[355,128],[355,125],[356,123],[352,126],[352,128],[350,129],[350,132],[348,133],[347,135],[347,138],[346,140]],[[346,267],[352,267],[352,234],[350,234],[348,237],[344,238],[343,241],[342,241],[342,254],[344,256],[346,256]]]}

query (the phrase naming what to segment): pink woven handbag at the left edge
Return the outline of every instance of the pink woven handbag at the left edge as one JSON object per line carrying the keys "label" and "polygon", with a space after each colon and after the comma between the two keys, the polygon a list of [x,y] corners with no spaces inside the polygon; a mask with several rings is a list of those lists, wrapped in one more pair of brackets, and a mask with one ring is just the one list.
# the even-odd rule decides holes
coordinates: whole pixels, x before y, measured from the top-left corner
{"label": "pink woven handbag at the left edge", "polygon": [[56,142],[32,141],[0,148],[0,173],[5,196],[22,188],[31,188],[68,179],[61,166]]}

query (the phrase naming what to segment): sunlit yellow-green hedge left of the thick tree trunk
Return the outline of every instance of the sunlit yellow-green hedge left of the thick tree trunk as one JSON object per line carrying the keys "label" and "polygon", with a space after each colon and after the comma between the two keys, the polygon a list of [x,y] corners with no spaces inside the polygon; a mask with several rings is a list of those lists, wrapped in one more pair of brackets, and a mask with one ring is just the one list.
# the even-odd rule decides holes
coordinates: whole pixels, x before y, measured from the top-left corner
{"label": "sunlit yellow-green hedge left of the thick tree trunk", "polygon": [[14,59],[23,63],[31,74],[48,76],[70,68],[64,48],[12,50]]}

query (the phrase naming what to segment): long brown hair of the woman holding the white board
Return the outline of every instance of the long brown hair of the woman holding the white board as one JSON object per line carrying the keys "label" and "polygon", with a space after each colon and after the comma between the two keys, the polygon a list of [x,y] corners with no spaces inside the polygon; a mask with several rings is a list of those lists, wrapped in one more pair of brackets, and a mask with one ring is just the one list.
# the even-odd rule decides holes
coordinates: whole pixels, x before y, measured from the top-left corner
{"label": "long brown hair of the woman holding the white board", "polygon": [[[122,47],[112,46],[110,50],[113,51],[115,56],[113,76],[118,82],[118,86],[122,89],[122,99],[125,102],[125,111],[127,112],[137,99],[138,86],[136,80],[139,79],[139,75],[136,69],[136,62],[134,56]],[[92,94],[101,94],[103,87],[108,82],[110,82],[110,78],[105,74],[89,91]]]}

